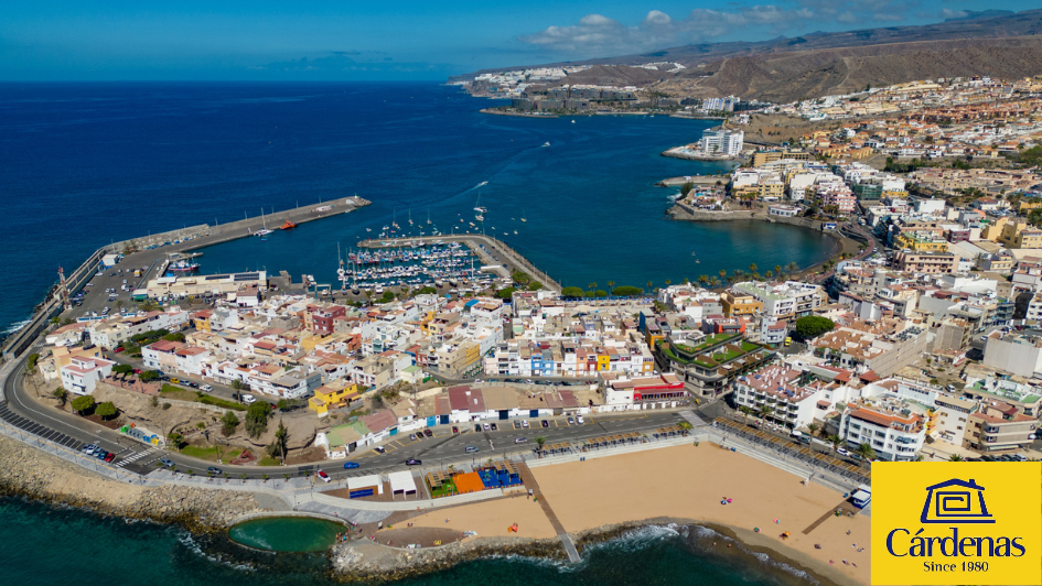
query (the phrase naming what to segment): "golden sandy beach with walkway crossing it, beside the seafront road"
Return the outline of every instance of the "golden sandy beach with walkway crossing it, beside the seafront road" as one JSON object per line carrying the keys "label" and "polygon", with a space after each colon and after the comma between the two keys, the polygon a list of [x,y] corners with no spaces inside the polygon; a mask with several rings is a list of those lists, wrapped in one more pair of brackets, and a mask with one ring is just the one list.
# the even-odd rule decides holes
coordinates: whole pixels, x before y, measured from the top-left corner
{"label": "golden sandy beach with walkway crossing it, beside the seafront road", "polygon": [[[805,486],[796,476],[716,444],[648,449],[531,470],[570,534],[656,518],[689,520],[730,529],[752,549],[776,552],[835,583],[869,584],[868,517],[835,517],[841,493]],[[731,499],[729,504],[720,503],[724,497]],[[476,531],[481,536],[513,535],[507,528],[514,522],[522,536],[554,535],[543,509],[525,497],[453,507],[412,522],[444,528],[445,518],[453,529]],[[791,536],[782,540],[786,531]]]}

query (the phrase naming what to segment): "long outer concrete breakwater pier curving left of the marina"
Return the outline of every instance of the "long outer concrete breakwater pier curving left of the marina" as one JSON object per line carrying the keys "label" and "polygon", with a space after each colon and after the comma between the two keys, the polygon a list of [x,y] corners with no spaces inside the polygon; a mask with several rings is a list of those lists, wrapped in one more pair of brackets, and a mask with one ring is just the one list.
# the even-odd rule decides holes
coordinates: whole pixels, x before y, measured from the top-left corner
{"label": "long outer concrete breakwater pier curving left of the marina", "polygon": [[[264,229],[266,224],[268,225],[268,229],[278,230],[279,226],[286,221],[300,225],[339,214],[350,214],[369,204],[370,202],[357,196],[342,197],[330,202],[319,202],[316,204],[303,207],[298,206],[271,214],[266,213],[264,217],[260,216],[260,208],[258,207],[258,215],[256,217],[244,218],[226,224],[214,224],[213,226],[208,224],[186,226],[180,230],[150,234],[148,236],[112,242],[94,251],[94,253],[87,257],[87,260],[74,271],[66,272],[66,289],[71,295],[83,289],[87,281],[94,279],[95,273],[99,271],[101,257],[105,254],[125,254],[121,261],[122,267],[117,265],[114,269],[101,271],[101,276],[98,276],[96,281],[94,281],[95,286],[92,287],[85,296],[84,305],[77,313],[89,310],[98,311],[106,304],[107,297],[104,295],[106,287],[119,289],[122,279],[130,280],[129,275],[117,278],[109,276],[108,272],[111,270],[123,269],[126,272],[128,269],[148,267],[149,271],[142,276],[132,279],[137,284],[146,283],[151,273],[162,271],[169,254],[185,254],[208,246],[219,245],[239,238],[248,238],[254,236],[257,230]],[[193,256],[197,254],[198,253],[194,253]],[[182,258],[190,257],[185,256]],[[32,321],[29,324],[3,340],[2,356],[4,359],[14,358],[25,351],[36,339],[36,335],[44,330],[50,319],[63,313],[64,307],[62,306],[60,289],[60,286],[56,286],[49,293],[49,297],[36,307]]]}

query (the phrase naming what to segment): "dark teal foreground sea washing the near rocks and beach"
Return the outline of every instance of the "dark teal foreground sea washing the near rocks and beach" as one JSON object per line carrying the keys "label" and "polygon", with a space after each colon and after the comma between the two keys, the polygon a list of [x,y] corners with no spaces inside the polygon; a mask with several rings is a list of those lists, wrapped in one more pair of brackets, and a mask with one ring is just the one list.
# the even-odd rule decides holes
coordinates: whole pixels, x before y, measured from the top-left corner
{"label": "dark teal foreground sea washing the near rocks and beach", "polygon": [[[0,585],[62,584],[336,584],[322,554],[261,553],[221,535],[193,536],[166,525],[0,499]],[[712,542],[720,545],[712,547]],[[723,538],[705,529],[648,528],[583,552],[567,566],[503,557],[462,564],[405,580],[404,586],[463,583],[497,586],[711,585],[794,586],[812,580],[765,556],[724,549]]]}

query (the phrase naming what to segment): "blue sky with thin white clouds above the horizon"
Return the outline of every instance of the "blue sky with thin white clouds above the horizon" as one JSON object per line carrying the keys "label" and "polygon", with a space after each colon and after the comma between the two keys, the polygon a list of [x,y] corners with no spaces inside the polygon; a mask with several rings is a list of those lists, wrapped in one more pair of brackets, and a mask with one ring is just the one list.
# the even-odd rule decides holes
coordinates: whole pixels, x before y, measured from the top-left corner
{"label": "blue sky with thin white clouds above the horizon", "polygon": [[689,43],[925,24],[1022,0],[0,2],[0,80],[430,79]]}

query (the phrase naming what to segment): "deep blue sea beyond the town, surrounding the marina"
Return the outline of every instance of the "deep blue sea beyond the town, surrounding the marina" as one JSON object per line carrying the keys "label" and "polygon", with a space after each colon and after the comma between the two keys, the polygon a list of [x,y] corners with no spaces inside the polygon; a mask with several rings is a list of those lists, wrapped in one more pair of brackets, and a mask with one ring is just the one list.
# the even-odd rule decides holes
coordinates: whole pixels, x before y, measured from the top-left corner
{"label": "deep blue sea beyond the town, surrounding the marina", "polygon": [[0,84],[0,332],[100,245],[354,194],[374,205],[207,249],[203,272],[330,283],[337,246],[410,215],[416,231],[428,217],[459,229],[479,194],[485,230],[566,286],[807,265],[831,246],[792,226],[664,216],[677,189],[655,182],[726,169],[658,154],[709,122],[479,112],[491,104],[434,83]]}

